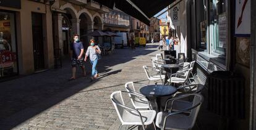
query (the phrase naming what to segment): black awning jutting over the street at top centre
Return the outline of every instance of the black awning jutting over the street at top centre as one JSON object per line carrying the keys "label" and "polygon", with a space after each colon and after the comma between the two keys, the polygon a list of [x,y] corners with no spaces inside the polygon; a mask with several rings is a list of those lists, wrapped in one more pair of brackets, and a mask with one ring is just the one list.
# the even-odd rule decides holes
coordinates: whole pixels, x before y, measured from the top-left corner
{"label": "black awning jutting over the street at top centre", "polygon": [[[155,14],[163,10],[165,7],[169,6],[176,0],[94,0],[104,6],[107,6],[113,9],[115,4],[117,9],[122,10],[128,15],[131,15],[134,18],[137,18],[141,22],[150,25],[150,20],[148,18],[153,17]],[[135,6],[139,7],[142,12],[147,15],[145,17],[139,10],[135,9],[132,4],[127,1],[131,1]]]}

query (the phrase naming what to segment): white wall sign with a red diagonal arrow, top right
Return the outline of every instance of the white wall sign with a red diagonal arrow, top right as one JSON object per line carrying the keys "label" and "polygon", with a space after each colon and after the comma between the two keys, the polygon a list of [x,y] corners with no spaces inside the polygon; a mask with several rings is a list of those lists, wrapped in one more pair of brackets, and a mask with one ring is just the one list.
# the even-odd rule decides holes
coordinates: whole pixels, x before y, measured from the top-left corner
{"label": "white wall sign with a red diagonal arrow, top right", "polygon": [[250,0],[236,0],[235,35],[250,35]]}

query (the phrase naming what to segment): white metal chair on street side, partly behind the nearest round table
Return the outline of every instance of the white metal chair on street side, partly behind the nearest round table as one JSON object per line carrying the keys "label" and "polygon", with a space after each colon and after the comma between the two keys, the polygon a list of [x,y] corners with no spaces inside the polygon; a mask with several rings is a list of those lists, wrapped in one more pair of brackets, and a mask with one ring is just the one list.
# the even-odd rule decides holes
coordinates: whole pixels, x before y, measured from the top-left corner
{"label": "white metal chair on street side, partly behind the nearest round table", "polygon": [[[135,84],[136,85],[140,84],[140,87],[147,86],[147,84],[142,84],[142,83],[135,83]],[[133,92],[137,95],[140,95],[140,96],[137,96],[137,95],[129,94],[130,101],[132,102],[132,105],[134,106],[135,109],[151,109],[149,105],[150,102],[148,102],[148,99],[144,95],[136,91],[134,87],[134,82],[127,82],[126,84],[124,84],[124,86],[126,87],[127,92]]]}

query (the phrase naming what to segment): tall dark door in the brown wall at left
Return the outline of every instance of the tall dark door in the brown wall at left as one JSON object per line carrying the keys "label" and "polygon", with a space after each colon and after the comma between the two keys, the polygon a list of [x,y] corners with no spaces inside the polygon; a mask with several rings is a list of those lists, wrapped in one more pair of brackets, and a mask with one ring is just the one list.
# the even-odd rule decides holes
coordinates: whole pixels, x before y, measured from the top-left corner
{"label": "tall dark door in the brown wall at left", "polygon": [[43,24],[41,14],[32,13],[32,34],[35,71],[43,70],[45,68],[45,59],[43,48]]}

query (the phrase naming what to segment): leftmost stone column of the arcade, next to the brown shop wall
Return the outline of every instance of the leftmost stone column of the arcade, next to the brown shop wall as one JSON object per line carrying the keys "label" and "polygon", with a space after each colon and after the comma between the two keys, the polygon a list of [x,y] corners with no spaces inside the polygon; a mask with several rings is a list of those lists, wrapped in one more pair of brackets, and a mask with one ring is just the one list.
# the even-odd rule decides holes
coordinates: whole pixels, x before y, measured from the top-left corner
{"label": "leftmost stone column of the arcade, next to the brown shop wall", "polygon": [[61,14],[53,15],[54,19],[54,49],[61,49],[63,52],[63,40],[62,40],[62,19],[63,16]]}

